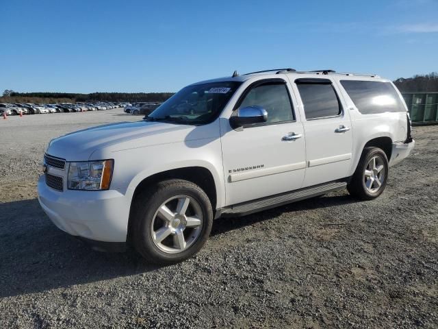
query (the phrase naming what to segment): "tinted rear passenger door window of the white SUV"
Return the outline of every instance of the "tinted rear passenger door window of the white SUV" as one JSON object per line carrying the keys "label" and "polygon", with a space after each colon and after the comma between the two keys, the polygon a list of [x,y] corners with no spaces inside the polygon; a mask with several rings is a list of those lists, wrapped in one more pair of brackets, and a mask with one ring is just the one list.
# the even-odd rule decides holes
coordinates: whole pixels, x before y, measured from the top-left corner
{"label": "tinted rear passenger door window of the white SUV", "polygon": [[331,84],[297,83],[306,119],[333,117],[341,113],[341,106]]}

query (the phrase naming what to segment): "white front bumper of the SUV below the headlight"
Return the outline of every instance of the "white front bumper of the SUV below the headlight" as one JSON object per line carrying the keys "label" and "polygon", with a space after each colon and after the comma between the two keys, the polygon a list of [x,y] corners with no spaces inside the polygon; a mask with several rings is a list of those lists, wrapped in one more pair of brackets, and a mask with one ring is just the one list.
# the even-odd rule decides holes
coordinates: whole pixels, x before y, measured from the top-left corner
{"label": "white front bumper of the SUV below the headlight", "polygon": [[38,201],[55,226],[68,234],[94,241],[126,241],[129,202],[118,191],[55,191],[42,175]]}

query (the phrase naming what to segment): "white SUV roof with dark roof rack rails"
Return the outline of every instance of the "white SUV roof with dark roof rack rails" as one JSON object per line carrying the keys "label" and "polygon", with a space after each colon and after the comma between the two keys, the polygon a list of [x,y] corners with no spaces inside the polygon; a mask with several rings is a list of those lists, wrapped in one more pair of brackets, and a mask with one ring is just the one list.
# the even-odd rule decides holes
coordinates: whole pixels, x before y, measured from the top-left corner
{"label": "white SUV roof with dark roof rack rails", "polygon": [[[263,71],[256,71],[256,72],[250,72],[250,73],[244,73],[242,75],[237,74],[235,71],[233,75],[229,75],[228,77],[219,77],[217,79],[211,79],[211,80],[204,80],[201,82],[196,82],[195,84],[206,84],[211,82],[224,82],[224,81],[235,81],[235,82],[244,82],[246,80],[249,80],[252,77],[255,76],[263,76],[263,75],[280,75],[280,74],[287,74],[287,75],[293,75],[295,78],[299,77],[329,77],[329,76],[335,76],[335,77],[346,77],[348,79],[357,79],[357,78],[365,78],[366,80],[369,79],[376,79],[378,81],[382,81],[382,79],[379,75],[376,74],[361,74],[361,73],[337,73],[334,70],[326,69],[326,70],[316,70],[316,71],[296,71],[294,69],[271,69],[271,70],[263,70]],[[388,80],[389,81],[389,80]]]}

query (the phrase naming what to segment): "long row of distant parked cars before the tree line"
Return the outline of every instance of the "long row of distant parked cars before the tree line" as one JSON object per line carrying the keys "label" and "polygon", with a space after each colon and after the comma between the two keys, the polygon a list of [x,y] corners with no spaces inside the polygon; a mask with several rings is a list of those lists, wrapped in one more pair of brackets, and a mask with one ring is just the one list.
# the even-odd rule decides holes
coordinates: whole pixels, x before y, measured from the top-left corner
{"label": "long row of distant parked cars before the tree line", "polygon": [[53,103],[53,104],[34,104],[34,103],[0,103],[0,114],[18,115],[22,114],[44,114],[60,112],[86,112],[96,110],[110,110],[111,108],[123,108],[129,103]]}

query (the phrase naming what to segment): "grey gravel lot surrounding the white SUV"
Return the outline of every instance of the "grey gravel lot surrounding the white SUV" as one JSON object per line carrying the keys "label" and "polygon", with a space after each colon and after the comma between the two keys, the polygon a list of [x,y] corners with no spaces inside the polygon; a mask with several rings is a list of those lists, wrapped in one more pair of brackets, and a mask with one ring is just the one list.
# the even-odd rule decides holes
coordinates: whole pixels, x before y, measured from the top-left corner
{"label": "grey gravel lot surrounding the white SUV", "polygon": [[218,219],[195,257],[157,267],[57,230],[36,199],[49,140],[122,110],[0,121],[0,328],[438,328],[438,126],[385,193],[331,193]]}

